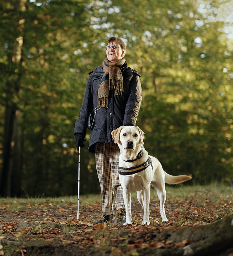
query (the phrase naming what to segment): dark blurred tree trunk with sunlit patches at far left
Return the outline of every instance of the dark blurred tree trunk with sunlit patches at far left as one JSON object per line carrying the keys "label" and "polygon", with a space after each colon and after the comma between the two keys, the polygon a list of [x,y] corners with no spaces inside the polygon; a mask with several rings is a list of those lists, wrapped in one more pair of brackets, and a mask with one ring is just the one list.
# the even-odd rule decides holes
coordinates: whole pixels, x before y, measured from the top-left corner
{"label": "dark blurred tree trunk with sunlit patches at far left", "polygon": [[[20,8],[25,7],[25,1],[16,1],[14,12],[18,15]],[[18,18],[21,16],[19,15]],[[19,24],[16,33],[7,37],[9,65],[9,80],[6,82],[6,104],[5,104],[5,125],[4,125],[4,145],[3,145],[3,170],[1,175],[0,196],[19,196],[21,163],[19,150],[19,116],[16,118],[18,109],[15,98],[19,96],[20,80],[22,75],[22,46],[23,46],[23,23]],[[12,38],[15,37],[15,41]],[[16,72],[16,70],[18,70]],[[12,79],[14,77],[14,79]],[[19,111],[18,111],[19,114]]]}

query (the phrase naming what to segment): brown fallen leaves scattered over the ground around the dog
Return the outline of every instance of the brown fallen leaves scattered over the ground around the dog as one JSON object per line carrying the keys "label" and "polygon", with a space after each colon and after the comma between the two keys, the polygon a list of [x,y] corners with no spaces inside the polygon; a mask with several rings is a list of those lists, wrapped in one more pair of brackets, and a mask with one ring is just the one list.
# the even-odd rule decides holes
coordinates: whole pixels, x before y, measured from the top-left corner
{"label": "brown fallen leaves scattered over the ground around the dog", "polygon": [[[85,203],[80,198],[80,218],[77,220],[75,197],[72,200],[56,198],[56,201],[54,198],[41,198],[37,202],[28,199],[22,205],[20,198],[0,198],[0,255],[5,255],[5,246],[12,243],[17,247],[15,255],[29,255],[29,241],[34,241],[34,244],[46,241],[51,246],[72,247],[76,255],[87,255],[88,248],[104,251],[106,255],[137,256],[139,248],[184,247],[192,241],[170,241],[171,233],[184,226],[194,228],[232,214],[232,195],[232,187],[227,187],[224,193],[208,187],[194,187],[192,192],[183,195],[169,189],[165,203],[169,221],[162,222],[159,199],[152,190],[151,225],[145,226],[141,225],[142,210],[135,195],[132,196],[131,207],[134,224],[126,226],[115,223],[93,224],[101,216],[101,200],[88,200]],[[18,208],[12,210],[13,205],[18,205]]]}

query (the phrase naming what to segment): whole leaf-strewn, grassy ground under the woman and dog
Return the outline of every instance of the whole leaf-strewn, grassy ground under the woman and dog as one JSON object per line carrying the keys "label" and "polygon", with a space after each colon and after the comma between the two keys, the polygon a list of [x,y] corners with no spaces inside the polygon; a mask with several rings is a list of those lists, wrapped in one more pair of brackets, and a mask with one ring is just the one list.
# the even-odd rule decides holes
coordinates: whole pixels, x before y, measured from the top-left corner
{"label": "whole leaf-strewn, grassy ground under the woman and dog", "polygon": [[[99,195],[80,195],[79,220],[77,197],[0,198],[0,255],[201,255],[207,248],[205,256],[233,256],[229,242],[233,241],[233,187],[176,186],[166,190],[169,221],[161,221],[159,200],[152,189],[148,226],[141,225],[142,211],[135,193],[134,225],[124,227],[93,224],[101,216]],[[214,247],[219,243],[213,250],[212,242]]]}

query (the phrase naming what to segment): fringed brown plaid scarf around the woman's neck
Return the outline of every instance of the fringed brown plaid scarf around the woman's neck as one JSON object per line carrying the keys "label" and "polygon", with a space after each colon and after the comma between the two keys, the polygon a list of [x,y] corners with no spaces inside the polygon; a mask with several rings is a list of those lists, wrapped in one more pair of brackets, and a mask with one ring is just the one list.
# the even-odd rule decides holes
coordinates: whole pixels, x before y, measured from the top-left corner
{"label": "fringed brown plaid scarf around the woman's neck", "polygon": [[122,95],[123,93],[123,76],[120,67],[125,63],[125,59],[117,62],[109,62],[105,59],[102,63],[103,76],[98,90],[98,108],[108,107],[109,90],[113,90],[114,96]]}

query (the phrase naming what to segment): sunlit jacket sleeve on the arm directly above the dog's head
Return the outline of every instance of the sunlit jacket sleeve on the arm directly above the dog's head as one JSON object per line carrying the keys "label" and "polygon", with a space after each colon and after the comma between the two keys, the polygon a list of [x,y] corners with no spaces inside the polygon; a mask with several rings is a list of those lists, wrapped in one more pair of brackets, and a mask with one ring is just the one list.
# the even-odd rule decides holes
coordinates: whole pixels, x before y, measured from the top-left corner
{"label": "sunlit jacket sleeve on the arm directly above the dog's head", "polygon": [[123,125],[136,125],[142,100],[140,75],[133,73],[130,81],[130,93],[125,107]]}

